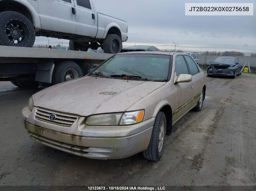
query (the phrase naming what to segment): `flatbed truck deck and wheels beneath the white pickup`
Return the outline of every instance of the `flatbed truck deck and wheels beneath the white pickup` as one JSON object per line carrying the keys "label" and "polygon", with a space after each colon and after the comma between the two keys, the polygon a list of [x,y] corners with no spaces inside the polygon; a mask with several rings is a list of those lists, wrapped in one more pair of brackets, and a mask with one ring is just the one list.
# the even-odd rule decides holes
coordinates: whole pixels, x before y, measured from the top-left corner
{"label": "flatbed truck deck and wheels beneath the white pickup", "polygon": [[0,81],[20,88],[51,86],[88,74],[113,54],[0,46]]}

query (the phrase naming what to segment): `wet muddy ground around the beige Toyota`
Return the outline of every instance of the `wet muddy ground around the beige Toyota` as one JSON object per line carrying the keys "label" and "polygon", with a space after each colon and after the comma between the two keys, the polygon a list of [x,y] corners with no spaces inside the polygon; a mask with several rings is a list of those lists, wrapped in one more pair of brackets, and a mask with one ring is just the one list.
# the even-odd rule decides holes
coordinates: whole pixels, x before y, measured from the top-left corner
{"label": "wet muddy ground around the beige Toyota", "polygon": [[0,82],[0,185],[256,185],[256,75],[208,78],[202,111],[175,124],[158,162],[92,160],[32,141],[20,117],[35,92]]}

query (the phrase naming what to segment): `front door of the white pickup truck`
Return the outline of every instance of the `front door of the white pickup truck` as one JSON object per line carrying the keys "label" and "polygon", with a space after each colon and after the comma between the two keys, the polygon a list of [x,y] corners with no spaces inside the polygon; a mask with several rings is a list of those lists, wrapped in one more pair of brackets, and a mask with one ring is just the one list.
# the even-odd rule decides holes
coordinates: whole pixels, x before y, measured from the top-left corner
{"label": "front door of the white pickup truck", "polygon": [[73,0],[38,0],[43,30],[75,33],[76,13]]}

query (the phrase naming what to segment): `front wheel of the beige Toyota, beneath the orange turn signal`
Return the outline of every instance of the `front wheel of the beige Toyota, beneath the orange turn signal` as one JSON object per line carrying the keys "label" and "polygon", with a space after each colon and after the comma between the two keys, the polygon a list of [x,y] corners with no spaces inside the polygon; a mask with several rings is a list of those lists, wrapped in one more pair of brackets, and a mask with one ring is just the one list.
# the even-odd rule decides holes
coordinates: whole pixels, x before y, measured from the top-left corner
{"label": "front wheel of the beige Toyota, beneath the orange turn signal", "polygon": [[165,113],[160,111],[155,119],[148,148],[143,151],[143,156],[146,159],[150,161],[158,161],[162,157],[164,153],[165,134],[166,117]]}

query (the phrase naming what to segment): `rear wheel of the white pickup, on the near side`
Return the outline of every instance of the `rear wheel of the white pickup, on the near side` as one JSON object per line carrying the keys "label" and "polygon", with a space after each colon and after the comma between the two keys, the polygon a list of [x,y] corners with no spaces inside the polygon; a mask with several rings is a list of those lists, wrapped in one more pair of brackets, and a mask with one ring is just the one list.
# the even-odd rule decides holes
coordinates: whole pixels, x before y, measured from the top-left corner
{"label": "rear wheel of the white pickup, on the near side", "polygon": [[122,41],[117,34],[108,34],[103,40],[103,50],[105,53],[117,54],[122,49]]}

